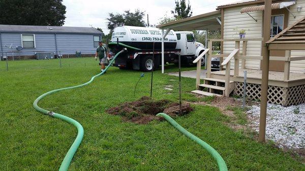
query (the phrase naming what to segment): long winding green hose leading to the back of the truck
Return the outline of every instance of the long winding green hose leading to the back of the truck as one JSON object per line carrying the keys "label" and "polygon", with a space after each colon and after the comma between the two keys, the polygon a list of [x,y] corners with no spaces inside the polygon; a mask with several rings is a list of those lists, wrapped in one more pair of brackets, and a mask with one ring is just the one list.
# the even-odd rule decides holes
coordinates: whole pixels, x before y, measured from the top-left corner
{"label": "long winding green hose leading to the back of the truck", "polygon": [[72,119],[72,118],[69,118],[67,116],[64,116],[64,115],[60,115],[60,114],[57,114],[57,113],[54,113],[54,112],[51,112],[51,111],[47,111],[45,109],[42,109],[40,108],[37,104],[38,102],[44,98],[45,96],[49,95],[49,94],[52,94],[52,93],[55,93],[57,91],[62,91],[62,90],[67,90],[67,89],[72,89],[72,88],[77,88],[77,87],[82,87],[82,86],[85,86],[87,84],[90,84],[93,82],[93,80],[96,78],[96,77],[99,77],[101,75],[103,75],[107,70],[108,68],[110,67],[110,65],[113,63],[113,61],[115,60],[115,58],[122,52],[124,52],[126,49],[123,49],[121,51],[119,51],[114,57],[113,59],[109,62],[108,66],[106,67],[106,69],[101,72],[100,74],[96,75],[96,76],[93,76],[90,81],[84,83],[84,84],[81,84],[81,85],[77,85],[77,86],[73,86],[73,87],[66,87],[66,88],[59,88],[59,89],[56,89],[56,90],[52,90],[52,91],[49,91],[49,92],[46,92],[44,94],[42,94],[41,96],[39,96],[34,102],[33,102],[33,107],[40,113],[43,113],[45,115],[49,115],[49,116],[52,116],[54,118],[58,118],[58,119],[62,119],[68,123],[71,123],[72,125],[74,125],[76,128],[77,128],[77,136],[76,136],[76,139],[75,141],[73,142],[72,146],[70,147],[69,151],[67,152],[64,160],[62,161],[62,164],[60,165],[59,167],[59,170],[60,171],[63,171],[63,170],[68,170],[69,166],[70,166],[70,163],[71,163],[71,160],[76,152],[76,150],[78,149],[81,141],[82,141],[82,138],[83,138],[83,135],[84,135],[84,129],[83,127],[81,126],[80,123],[78,123],[76,120]]}

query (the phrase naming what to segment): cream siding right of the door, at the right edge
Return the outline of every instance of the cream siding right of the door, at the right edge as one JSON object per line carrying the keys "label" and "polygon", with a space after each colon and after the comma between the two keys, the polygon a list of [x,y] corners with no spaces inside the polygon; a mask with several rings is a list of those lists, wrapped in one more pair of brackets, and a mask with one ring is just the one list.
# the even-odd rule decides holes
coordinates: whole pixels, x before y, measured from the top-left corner
{"label": "cream siding right of the door, at the right edge", "polygon": [[[296,11],[297,6],[301,6],[302,7],[300,12]],[[301,17],[305,16],[305,0],[298,0],[298,1],[296,1],[296,4],[290,7],[290,11],[296,17],[293,18],[293,16],[290,14],[289,15],[288,25],[293,24],[294,22],[299,20]],[[305,54],[305,51],[291,51],[291,56],[292,57],[304,56],[304,54]],[[290,70],[292,72],[305,73],[305,60],[292,61],[291,64],[290,64]]]}

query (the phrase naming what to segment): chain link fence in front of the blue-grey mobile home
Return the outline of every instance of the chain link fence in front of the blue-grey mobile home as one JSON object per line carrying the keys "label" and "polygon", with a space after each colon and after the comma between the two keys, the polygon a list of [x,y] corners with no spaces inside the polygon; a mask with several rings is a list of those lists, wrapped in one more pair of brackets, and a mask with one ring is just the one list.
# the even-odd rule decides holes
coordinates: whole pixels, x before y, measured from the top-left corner
{"label": "chain link fence in front of the blue-grey mobile home", "polygon": [[[83,65],[97,64],[98,62],[94,60],[95,53],[95,51],[0,51],[0,71],[17,69],[17,65],[21,63],[24,63],[22,66],[28,69],[31,69],[31,65],[35,63],[42,67],[43,65],[51,67],[52,63],[54,66],[58,64],[59,67],[80,64],[79,62]],[[34,62],[35,60],[41,62]]]}

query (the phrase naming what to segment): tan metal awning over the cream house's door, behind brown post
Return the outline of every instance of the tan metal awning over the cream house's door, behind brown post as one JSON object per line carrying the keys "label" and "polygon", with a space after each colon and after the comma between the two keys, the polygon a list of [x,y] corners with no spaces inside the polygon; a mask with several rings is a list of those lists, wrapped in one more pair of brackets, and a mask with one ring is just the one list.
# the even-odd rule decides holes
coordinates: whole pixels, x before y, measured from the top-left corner
{"label": "tan metal awning over the cream house's door, behind brown post", "polygon": [[[271,9],[282,9],[282,8],[287,8],[289,6],[292,6],[295,4],[295,1],[290,1],[290,2],[282,2],[282,3],[274,3],[271,5]],[[253,7],[245,7],[240,10],[240,13],[249,13],[249,12],[254,12],[254,11],[264,11],[265,10],[265,5],[261,6],[253,6]]]}

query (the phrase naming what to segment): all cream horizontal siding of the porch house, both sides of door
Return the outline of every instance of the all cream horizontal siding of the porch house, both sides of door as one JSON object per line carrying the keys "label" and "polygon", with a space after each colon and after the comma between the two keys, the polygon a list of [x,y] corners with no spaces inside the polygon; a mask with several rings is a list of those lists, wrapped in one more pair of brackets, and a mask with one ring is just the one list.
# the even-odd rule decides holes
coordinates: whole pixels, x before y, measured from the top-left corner
{"label": "all cream horizontal siding of the porch house, both sides of door", "polygon": [[[297,12],[297,6],[301,6],[300,12]],[[248,14],[241,14],[240,10],[244,7],[234,7],[224,9],[224,39],[235,39],[239,38],[238,30],[246,29],[246,38],[262,38],[262,20],[263,12],[249,12],[251,16],[257,19],[257,22],[253,20]],[[300,19],[300,17],[305,16],[305,0],[298,0],[296,4],[290,6],[290,11],[296,18],[293,18],[289,14],[288,25],[293,24],[295,21]],[[242,46],[242,42],[240,43]],[[242,52],[242,47],[240,46],[240,53]],[[247,46],[247,55],[259,56],[261,55],[261,42],[259,41],[249,41]],[[224,53],[231,53],[235,48],[234,42],[224,42]],[[292,51],[291,56],[304,56],[305,51]],[[234,61],[231,61],[231,68],[234,67]],[[248,69],[260,69],[260,60],[246,60],[246,68]],[[305,72],[305,60],[292,61],[290,66],[291,72]]]}

